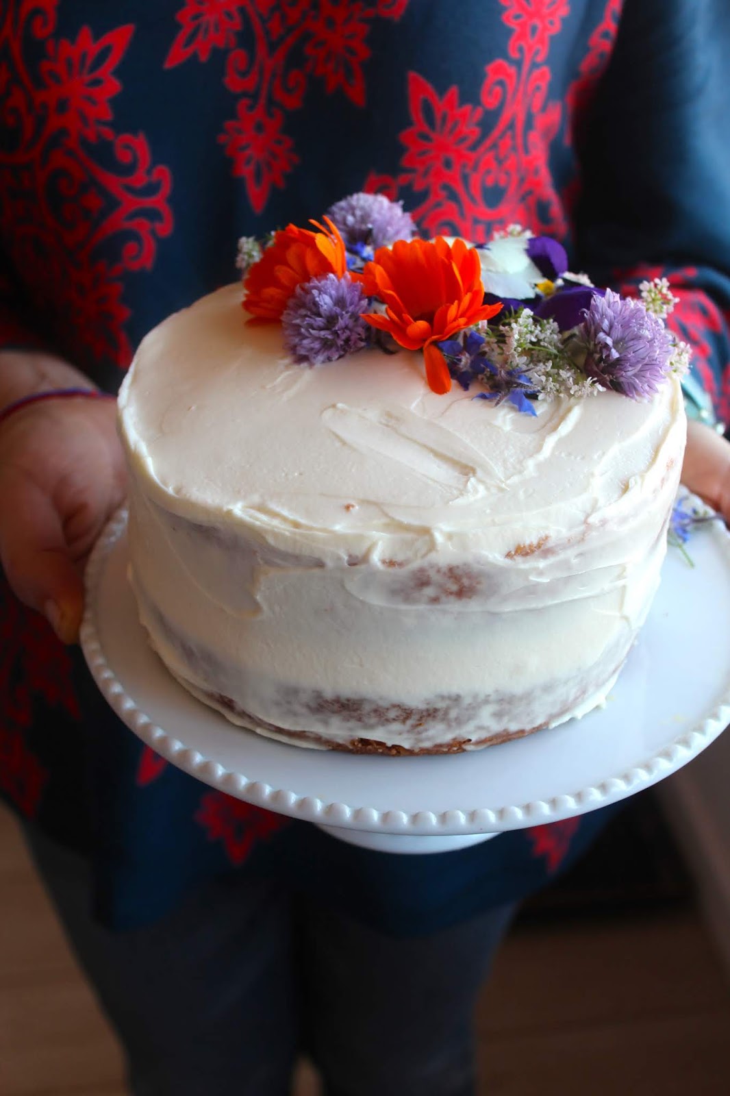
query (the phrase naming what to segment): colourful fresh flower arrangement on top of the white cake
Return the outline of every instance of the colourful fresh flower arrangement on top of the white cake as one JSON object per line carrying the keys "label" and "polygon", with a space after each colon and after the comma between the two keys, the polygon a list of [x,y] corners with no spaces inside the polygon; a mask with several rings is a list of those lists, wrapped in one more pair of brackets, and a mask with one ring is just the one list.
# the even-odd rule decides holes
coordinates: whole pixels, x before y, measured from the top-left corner
{"label": "colourful fresh flower arrangement on top of the white cake", "polygon": [[242,306],[280,322],[292,358],[321,365],[366,346],[422,351],[432,391],[454,381],[476,399],[535,414],[552,396],[649,399],[689,347],[665,327],[665,278],[640,296],[568,270],[563,247],[518,225],[486,244],[423,240],[401,203],[353,194],[311,229],[239,241]]}

